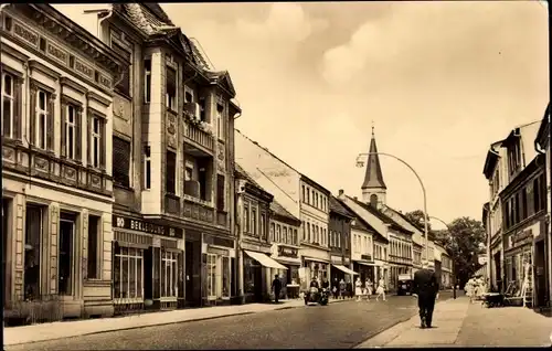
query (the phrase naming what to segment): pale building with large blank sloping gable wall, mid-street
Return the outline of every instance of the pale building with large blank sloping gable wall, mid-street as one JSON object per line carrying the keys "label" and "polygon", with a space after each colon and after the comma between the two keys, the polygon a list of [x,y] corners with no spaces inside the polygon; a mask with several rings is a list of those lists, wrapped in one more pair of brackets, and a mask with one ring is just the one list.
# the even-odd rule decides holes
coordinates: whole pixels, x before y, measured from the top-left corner
{"label": "pale building with large blank sloping gable wall, mid-street", "polygon": [[[235,131],[236,160],[243,169],[302,225],[299,257],[305,273],[301,283],[311,277],[330,277],[328,247],[330,191],[276,157],[268,149]],[[306,288],[306,286],[304,286]]]}

